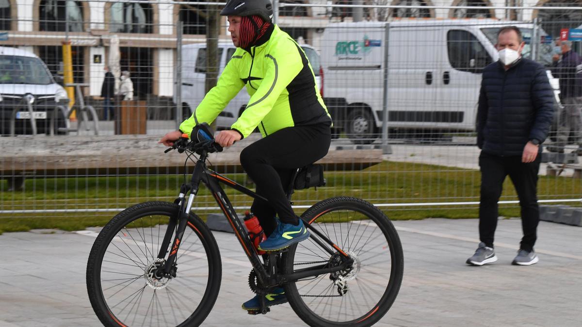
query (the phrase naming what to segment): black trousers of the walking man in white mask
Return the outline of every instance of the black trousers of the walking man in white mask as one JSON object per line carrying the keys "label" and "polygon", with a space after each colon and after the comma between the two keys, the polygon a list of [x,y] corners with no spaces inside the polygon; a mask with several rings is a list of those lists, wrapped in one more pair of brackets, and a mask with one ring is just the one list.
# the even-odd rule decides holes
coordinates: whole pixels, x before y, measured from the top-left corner
{"label": "black trousers of the walking man in white mask", "polygon": [[523,238],[520,248],[531,251],[537,239],[540,210],[537,199],[538,171],[541,154],[534,162],[523,163],[521,156],[501,157],[481,151],[481,203],[479,205],[479,236],[488,247],[493,247],[497,228],[498,204],[503,180],[509,175],[521,207]]}

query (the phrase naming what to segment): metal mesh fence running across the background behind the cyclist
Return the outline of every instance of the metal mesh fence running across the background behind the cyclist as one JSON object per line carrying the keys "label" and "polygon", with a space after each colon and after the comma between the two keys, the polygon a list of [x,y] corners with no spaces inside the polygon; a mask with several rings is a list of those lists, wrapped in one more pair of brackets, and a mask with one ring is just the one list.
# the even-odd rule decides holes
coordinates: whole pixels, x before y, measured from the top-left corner
{"label": "metal mesh fence running across the background behind the cyclist", "polygon": [[[570,152],[581,142],[573,92],[582,67],[566,59],[582,53],[581,4],[275,1],[274,22],[305,52],[334,122],[327,186],[297,191],[297,212],[352,195],[396,218],[475,216],[481,72],[498,60],[496,33],[508,24],[555,88],[539,198],[579,205],[582,167]],[[223,5],[0,0],[0,229],[47,226],[39,220],[83,228],[177,196],[193,164],[156,142],[191,115],[235,52]],[[215,129],[228,129],[248,101],[242,90]],[[215,169],[253,187],[238,155],[259,137],[212,157]],[[510,184],[503,194],[502,214],[519,215]],[[204,191],[194,207],[218,212]]]}

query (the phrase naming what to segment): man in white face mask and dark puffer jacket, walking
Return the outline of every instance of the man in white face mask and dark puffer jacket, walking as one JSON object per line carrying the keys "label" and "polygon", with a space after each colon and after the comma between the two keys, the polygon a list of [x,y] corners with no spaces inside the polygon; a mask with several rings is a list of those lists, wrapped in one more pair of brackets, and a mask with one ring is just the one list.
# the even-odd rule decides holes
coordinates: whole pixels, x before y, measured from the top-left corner
{"label": "man in white face mask and dark puffer jacket, walking", "polygon": [[540,214],[537,180],[540,144],[548,136],[553,91],[544,66],[521,58],[525,43],[515,26],[498,33],[499,62],[485,67],[477,110],[477,145],[481,149],[481,243],[467,264],[497,261],[493,241],[503,180],[509,175],[521,206],[523,238],[513,264],[538,262],[534,252]]}

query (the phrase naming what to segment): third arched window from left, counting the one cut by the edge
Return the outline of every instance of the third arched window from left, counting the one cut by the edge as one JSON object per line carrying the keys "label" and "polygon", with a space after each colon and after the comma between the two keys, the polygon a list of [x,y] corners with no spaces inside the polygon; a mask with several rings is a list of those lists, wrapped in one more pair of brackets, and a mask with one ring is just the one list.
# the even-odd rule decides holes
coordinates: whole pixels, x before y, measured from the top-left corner
{"label": "third arched window from left, counting the one cut by the edge", "polygon": [[152,33],[152,9],[147,3],[115,2],[109,9],[109,31]]}

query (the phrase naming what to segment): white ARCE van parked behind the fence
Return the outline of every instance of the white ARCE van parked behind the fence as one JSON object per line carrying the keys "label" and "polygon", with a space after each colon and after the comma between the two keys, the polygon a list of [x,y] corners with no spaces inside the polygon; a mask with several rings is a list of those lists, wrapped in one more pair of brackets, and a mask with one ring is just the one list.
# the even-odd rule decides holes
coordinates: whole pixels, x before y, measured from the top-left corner
{"label": "white ARCE van parked behind the fence", "polygon": [[[381,132],[386,53],[389,131],[426,136],[474,130],[482,68],[498,60],[500,27],[520,27],[526,41],[523,56],[531,57],[529,23],[397,21],[389,23],[387,42],[386,24],[329,24],[322,38],[324,93],[346,104],[333,121],[356,143],[371,143]],[[552,46],[549,41],[538,47],[546,65],[552,62]]]}

